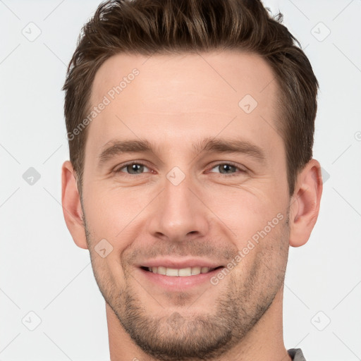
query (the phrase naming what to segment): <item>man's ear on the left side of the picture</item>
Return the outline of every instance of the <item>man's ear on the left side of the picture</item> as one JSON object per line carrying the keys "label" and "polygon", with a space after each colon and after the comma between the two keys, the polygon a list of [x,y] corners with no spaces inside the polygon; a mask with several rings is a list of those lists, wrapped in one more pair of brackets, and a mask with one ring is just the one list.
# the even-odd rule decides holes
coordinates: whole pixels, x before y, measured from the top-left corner
{"label": "man's ear on the left side of the picture", "polygon": [[85,228],[82,221],[82,207],[76,183],[76,173],[70,161],[65,161],[61,167],[61,203],[66,226],[76,245],[87,249]]}

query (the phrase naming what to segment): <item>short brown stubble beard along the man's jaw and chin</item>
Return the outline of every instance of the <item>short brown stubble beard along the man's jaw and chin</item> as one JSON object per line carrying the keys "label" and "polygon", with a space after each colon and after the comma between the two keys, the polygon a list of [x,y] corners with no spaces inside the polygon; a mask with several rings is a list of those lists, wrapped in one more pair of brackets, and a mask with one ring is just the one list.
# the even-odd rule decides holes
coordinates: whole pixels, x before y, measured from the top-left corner
{"label": "short brown stubble beard along the man's jaw and chin", "polygon": [[[94,245],[85,218],[83,221],[87,243]],[[283,286],[288,257],[288,221],[280,226],[282,229],[276,235],[262,240],[269,245],[257,253],[251,268],[244,270],[247,277],[235,278],[236,272],[232,271],[225,277],[222,281],[227,282],[225,291],[214,300],[216,312],[212,314],[198,313],[190,317],[189,309],[185,306],[186,314],[167,314],[162,309],[160,313],[164,316],[152,316],[134,290],[133,285],[137,282],[127,267],[123,266],[124,285],[115,289],[111,278],[97,267],[96,257],[92,257],[94,251],[89,247],[94,276],[123,329],[147,355],[159,361],[214,360],[243,340],[269,309]],[[275,255],[281,260],[277,264],[272,258]],[[214,297],[214,287],[217,286],[209,284],[209,288],[196,301],[198,305],[202,298],[209,300]]]}

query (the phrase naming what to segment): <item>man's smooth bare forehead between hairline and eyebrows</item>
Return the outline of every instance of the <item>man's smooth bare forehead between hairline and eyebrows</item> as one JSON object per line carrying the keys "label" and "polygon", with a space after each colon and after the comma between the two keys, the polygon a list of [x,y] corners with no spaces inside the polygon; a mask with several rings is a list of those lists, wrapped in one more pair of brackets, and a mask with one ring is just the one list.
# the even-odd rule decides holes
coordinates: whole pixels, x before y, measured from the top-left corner
{"label": "man's smooth bare forehead between hairline and eyebrows", "polygon": [[86,147],[124,135],[184,143],[191,129],[195,136],[241,131],[266,141],[276,129],[277,97],[274,73],[257,54],[117,54],[95,75],[90,104],[106,106],[90,123]]}

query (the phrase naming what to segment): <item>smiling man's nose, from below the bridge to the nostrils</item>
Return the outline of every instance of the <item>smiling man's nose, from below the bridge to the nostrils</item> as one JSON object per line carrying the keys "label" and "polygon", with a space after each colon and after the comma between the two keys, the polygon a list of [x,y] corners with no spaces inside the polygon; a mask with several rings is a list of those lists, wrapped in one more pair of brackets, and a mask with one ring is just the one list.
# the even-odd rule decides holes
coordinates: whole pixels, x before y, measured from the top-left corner
{"label": "smiling man's nose, from below the bridge to the nostrils", "polygon": [[[209,214],[204,195],[188,177],[178,185],[168,179],[156,202],[152,202],[152,219],[149,232],[157,238],[182,242],[201,237],[209,230]],[[207,217],[208,215],[208,217]]]}

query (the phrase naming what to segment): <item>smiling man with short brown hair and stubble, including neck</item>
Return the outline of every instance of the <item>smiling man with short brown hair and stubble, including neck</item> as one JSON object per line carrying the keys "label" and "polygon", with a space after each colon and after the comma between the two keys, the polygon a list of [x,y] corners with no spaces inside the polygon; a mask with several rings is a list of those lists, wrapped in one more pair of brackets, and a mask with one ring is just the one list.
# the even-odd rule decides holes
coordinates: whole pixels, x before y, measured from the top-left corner
{"label": "smiling man with short brown hair and stubble, including neck", "polygon": [[63,213],[118,360],[305,360],[283,344],[288,247],[322,195],[317,79],[261,1],[119,0],[63,89]]}

